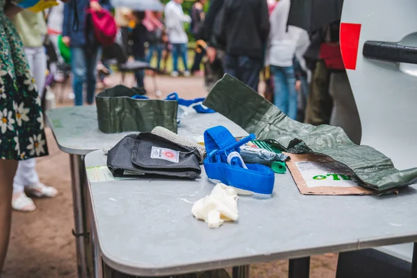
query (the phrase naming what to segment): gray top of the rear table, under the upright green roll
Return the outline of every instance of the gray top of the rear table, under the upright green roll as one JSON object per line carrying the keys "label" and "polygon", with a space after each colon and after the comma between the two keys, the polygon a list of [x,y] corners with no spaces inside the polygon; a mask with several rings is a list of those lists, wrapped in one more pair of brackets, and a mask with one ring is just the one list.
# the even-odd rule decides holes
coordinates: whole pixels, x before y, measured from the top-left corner
{"label": "gray top of the rear table, under the upright green roll", "polygon": [[[58,147],[68,154],[85,155],[96,149],[109,149],[133,131],[106,134],[99,130],[96,106],[74,106],[47,111],[47,121]],[[181,136],[202,136],[211,126],[224,125],[235,136],[247,132],[226,117],[218,114],[196,114],[185,117],[178,126]]]}

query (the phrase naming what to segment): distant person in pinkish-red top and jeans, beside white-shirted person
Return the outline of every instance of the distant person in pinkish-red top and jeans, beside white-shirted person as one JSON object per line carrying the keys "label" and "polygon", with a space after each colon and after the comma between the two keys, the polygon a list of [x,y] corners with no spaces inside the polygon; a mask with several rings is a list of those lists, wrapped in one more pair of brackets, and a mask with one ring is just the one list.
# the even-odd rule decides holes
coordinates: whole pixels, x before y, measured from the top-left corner
{"label": "distant person in pinkish-red top and jeans, beside white-shirted person", "polygon": [[156,68],[161,69],[162,51],[163,51],[163,26],[161,12],[145,12],[145,19],[143,24],[147,28],[149,42],[148,54],[146,57],[147,63],[151,63],[154,52],[156,52]]}

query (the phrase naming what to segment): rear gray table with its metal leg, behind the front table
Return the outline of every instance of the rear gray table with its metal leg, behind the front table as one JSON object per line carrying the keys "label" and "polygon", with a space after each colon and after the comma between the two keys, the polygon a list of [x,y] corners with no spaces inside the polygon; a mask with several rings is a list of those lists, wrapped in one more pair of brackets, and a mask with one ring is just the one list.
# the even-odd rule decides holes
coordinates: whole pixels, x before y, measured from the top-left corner
{"label": "rear gray table with its metal leg, behind the front table", "polygon": [[[102,133],[97,124],[96,106],[75,106],[47,111],[47,121],[61,151],[70,154],[72,196],[74,202],[74,231],[79,277],[95,275],[94,250],[91,236],[91,207],[86,191],[84,157],[97,149],[110,149],[124,136],[134,133]],[[211,126],[224,125],[236,136],[247,133],[218,113],[184,117],[178,133],[202,136]],[[195,138],[198,140],[198,138]]]}

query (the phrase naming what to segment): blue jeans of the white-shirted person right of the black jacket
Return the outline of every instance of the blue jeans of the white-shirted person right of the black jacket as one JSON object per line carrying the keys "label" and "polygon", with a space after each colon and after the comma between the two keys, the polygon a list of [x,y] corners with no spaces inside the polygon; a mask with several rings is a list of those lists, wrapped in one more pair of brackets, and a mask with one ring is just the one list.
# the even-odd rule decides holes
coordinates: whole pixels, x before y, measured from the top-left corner
{"label": "blue jeans of the white-shirted person right of the black jacket", "polygon": [[284,114],[297,118],[297,91],[295,90],[294,67],[270,66],[274,78],[274,104]]}

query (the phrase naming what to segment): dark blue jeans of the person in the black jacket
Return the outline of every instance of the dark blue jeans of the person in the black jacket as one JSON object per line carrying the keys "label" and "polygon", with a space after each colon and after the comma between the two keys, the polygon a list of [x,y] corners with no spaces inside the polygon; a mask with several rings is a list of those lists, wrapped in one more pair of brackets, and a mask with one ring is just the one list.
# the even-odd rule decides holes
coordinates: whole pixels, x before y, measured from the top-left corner
{"label": "dark blue jeans of the person in the black jacket", "polygon": [[224,73],[236,77],[250,88],[258,92],[259,72],[261,72],[261,60],[247,56],[224,56]]}

